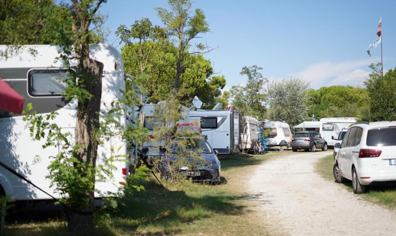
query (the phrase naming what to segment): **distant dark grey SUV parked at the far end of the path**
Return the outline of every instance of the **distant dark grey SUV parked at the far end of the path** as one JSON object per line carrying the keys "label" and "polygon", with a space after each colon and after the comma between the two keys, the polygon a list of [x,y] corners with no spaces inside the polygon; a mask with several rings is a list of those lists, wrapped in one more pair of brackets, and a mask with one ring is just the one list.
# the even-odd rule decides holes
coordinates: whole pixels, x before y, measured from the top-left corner
{"label": "distant dark grey SUV parked at the far end of the path", "polygon": [[294,133],[292,139],[292,150],[304,149],[305,151],[315,152],[317,148],[323,151],[327,150],[327,142],[319,136],[319,133],[314,131],[304,131]]}

